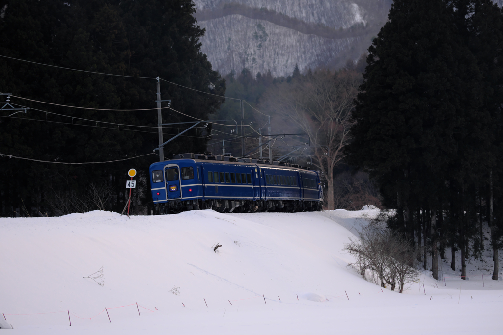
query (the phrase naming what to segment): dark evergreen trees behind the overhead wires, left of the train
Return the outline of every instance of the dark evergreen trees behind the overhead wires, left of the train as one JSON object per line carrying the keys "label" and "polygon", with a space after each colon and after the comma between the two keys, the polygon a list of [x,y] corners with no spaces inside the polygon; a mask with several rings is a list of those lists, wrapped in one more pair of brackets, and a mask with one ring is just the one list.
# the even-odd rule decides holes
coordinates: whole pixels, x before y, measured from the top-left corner
{"label": "dark evergreen trees behind the overhead wires, left of the train", "polygon": [[[0,58],[0,92],[112,109],[75,109],[12,97],[11,103],[32,109],[12,117],[9,111],[0,112],[0,153],[52,162],[112,161],[152,153],[158,146],[156,110],[115,109],[155,108],[157,76],[199,91],[225,93],[225,81],[201,53],[204,30],[193,17],[191,0],[0,0],[0,11],[0,55],[117,75]],[[196,118],[206,120],[222,103],[214,95],[163,81],[160,85],[161,99],[172,99],[174,109]],[[163,122],[192,121],[169,109],[162,115]],[[186,128],[181,127],[165,128],[164,141]],[[164,155],[204,152],[204,135],[204,129],[191,130],[171,142]],[[13,216],[16,208],[23,208],[22,215],[55,213],[58,199],[93,198],[103,188],[112,189],[106,209],[121,211],[129,168],[136,168],[136,179],[146,185],[148,166],[158,159],[150,155],[110,164],[58,165],[0,157],[0,216]],[[137,195],[141,198],[141,192]],[[141,202],[149,201],[147,192]]]}

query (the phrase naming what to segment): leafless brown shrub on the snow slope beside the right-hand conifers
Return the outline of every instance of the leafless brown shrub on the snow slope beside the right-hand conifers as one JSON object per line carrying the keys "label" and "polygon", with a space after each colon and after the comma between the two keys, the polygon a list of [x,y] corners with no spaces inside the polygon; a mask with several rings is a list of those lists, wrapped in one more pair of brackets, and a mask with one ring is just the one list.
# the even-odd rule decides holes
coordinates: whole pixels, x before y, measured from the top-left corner
{"label": "leafless brown shrub on the snow slope beside the right-hand conifers", "polygon": [[377,224],[364,228],[359,240],[350,239],[344,247],[356,258],[350,265],[357,268],[363,278],[368,280],[371,277],[382,287],[391,285],[391,291],[398,284],[402,293],[405,283],[418,277],[414,263],[423,251],[412,248],[404,238]]}

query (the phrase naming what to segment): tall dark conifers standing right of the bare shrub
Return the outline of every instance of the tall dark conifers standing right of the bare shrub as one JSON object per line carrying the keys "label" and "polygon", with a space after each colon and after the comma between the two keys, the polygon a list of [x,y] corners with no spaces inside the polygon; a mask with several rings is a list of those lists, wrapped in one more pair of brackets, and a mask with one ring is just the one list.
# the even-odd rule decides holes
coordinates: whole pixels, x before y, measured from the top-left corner
{"label": "tall dark conifers standing right of the bare shrub", "polygon": [[435,278],[449,247],[465,279],[484,220],[499,274],[502,48],[503,14],[488,0],[395,0],[368,50],[348,159],[396,209],[390,225],[431,247]]}

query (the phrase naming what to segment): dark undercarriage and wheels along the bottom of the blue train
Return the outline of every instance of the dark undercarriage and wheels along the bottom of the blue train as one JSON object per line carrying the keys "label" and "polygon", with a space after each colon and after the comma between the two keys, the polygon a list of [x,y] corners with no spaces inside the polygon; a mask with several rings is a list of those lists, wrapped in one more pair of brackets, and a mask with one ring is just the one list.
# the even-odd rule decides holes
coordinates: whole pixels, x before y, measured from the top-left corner
{"label": "dark undercarriage and wheels along the bottom of the blue train", "polygon": [[301,200],[174,200],[154,205],[154,215],[213,209],[220,213],[320,211],[322,202]]}

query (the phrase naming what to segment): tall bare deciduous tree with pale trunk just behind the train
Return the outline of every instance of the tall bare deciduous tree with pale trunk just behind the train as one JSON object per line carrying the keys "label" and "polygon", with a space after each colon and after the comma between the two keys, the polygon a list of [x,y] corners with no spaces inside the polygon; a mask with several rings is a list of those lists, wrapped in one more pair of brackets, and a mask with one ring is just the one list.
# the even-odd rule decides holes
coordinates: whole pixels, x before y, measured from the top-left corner
{"label": "tall bare deciduous tree with pale trunk just behind the train", "polygon": [[360,80],[356,71],[318,71],[279,85],[265,98],[264,107],[271,114],[279,114],[285,123],[293,122],[309,135],[313,164],[326,181],[327,209],[334,208],[333,168],[344,158]]}

